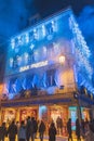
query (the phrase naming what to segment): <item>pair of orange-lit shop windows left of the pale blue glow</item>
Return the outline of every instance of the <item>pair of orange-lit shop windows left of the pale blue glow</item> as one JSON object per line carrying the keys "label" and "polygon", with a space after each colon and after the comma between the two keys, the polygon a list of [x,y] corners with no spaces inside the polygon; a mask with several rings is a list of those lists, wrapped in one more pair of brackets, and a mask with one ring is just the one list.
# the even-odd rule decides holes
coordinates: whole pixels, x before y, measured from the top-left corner
{"label": "pair of orange-lit shop windows left of the pale blue glow", "polygon": [[6,108],[2,108],[1,113],[2,113],[1,123],[5,121],[8,126],[13,119],[15,119],[15,121],[26,120],[28,116],[38,119],[37,106],[33,107],[24,106],[24,107],[14,107],[14,108],[6,107]]}

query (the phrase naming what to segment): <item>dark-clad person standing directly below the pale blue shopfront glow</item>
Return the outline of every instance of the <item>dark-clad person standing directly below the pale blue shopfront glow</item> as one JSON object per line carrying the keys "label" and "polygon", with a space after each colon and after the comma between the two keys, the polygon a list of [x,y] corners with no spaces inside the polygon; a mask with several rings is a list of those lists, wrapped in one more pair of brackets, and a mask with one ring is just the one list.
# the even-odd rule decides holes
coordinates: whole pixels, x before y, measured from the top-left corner
{"label": "dark-clad person standing directly below the pale blue shopfront glow", "polygon": [[40,141],[43,141],[44,131],[45,131],[45,125],[44,125],[43,120],[41,119],[41,121],[39,124],[39,137],[40,137]]}

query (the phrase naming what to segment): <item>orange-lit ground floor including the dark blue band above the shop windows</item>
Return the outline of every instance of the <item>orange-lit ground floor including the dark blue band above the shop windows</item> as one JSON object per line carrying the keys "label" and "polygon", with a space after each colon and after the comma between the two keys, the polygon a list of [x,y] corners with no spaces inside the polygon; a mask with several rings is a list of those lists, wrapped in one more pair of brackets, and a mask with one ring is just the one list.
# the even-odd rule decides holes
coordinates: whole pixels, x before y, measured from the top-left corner
{"label": "orange-lit ground floor including the dark blue band above the shop windows", "polygon": [[42,95],[40,99],[35,97],[33,99],[17,100],[17,101],[5,101],[2,102],[1,107],[1,123],[5,121],[10,124],[12,119],[16,121],[26,120],[28,116],[33,116],[37,120],[41,118],[44,120],[46,126],[46,132],[51,120],[53,119],[57,126],[57,118],[59,117],[63,121],[63,131],[58,133],[66,134],[67,121],[71,118],[72,130],[76,129],[76,119],[83,118],[90,119],[90,108],[80,106],[81,115],[79,116],[79,105],[73,98],[69,98],[58,94],[50,95],[45,99]]}

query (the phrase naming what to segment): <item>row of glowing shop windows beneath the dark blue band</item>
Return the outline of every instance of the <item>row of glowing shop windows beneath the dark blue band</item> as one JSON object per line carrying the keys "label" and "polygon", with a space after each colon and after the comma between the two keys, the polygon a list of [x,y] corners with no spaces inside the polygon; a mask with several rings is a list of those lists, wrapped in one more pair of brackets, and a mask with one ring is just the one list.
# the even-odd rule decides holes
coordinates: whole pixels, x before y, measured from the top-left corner
{"label": "row of glowing shop windows beneath the dark blue band", "polygon": [[[84,120],[90,120],[90,110],[81,107],[82,118]],[[67,134],[67,121],[71,118],[72,130],[76,130],[76,119],[78,118],[78,106],[70,104],[39,104],[39,105],[29,105],[29,106],[15,106],[15,107],[3,107],[2,108],[2,121],[4,120],[8,125],[12,119],[15,121],[26,120],[28,116],[33,116],[37,120],[43,119],[46,132],[52,120],[54,120],[57,128],[57,118],[59,117],[63,121],[62,133]]]}

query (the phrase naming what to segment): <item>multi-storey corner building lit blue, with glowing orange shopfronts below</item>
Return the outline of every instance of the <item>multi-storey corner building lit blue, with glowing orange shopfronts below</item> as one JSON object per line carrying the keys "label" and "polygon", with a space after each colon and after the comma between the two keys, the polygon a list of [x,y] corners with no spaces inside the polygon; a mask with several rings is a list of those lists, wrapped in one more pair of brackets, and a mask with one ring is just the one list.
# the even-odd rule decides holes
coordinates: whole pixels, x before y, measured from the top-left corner
{"label": "multi-storey corner building lit blue, with glowing orange shopfronts below", "polygon": [[[1,118],[21,120],[33,115],[49,123],[62,116],[64,123],[69,117],[75,121],[73,93],[82,86],[93,93],[93,72],[91,52],[72,11],[67,9],[14,36],[8,49]],[[89,118],[82,102],[86,113],[82,117]]]}

